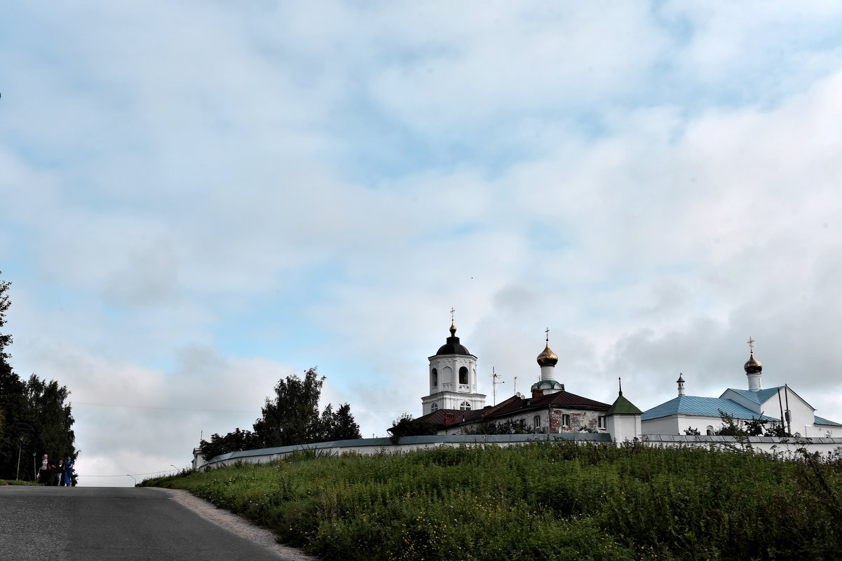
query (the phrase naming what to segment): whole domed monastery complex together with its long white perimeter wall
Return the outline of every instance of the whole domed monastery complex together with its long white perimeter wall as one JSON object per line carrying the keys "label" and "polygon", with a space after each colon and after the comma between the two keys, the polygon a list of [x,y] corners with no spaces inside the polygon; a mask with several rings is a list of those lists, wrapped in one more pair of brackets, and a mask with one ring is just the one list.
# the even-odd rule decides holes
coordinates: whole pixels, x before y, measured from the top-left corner
{"label": "whole domed monastery complex together with its long white perimeter wall", "polygon": [[[749,345],[751,345],[749,340]],[[485,405],[485,394],[477,391],[477,357],[468,352],[450,322],[450,336],[429,360],[429,394],[421,398],[424,415],[415,421],[429,423],[436,434],[390,438],[361,438],[318,442],[286,447],[245,450],[203,458],[193,450],[194,468],[211,468],[231,463],[277,461],[299,450],[324,454],[403,453],[437,446],[514,446],[536,439],[547,441],[642,442],[652,446],[733,447],[738,437],[713,435],[722,426],[721,411],[739,421],[761,419],[783,423],[786,432],[800,438],[744,437],[756,450],[786,453],[797,457],[802,447],[811,452],[842,454],[842,425],[815,415],[813,406],[788,385],[763,389],[763,365],[751,348],[744,370],[748,389],[726,389],[717,398],[685,394],[685,380],[679,375],[678,395],[641,413],[623,396],[613,404],[602,403],[568,392],[558,380],[558,357],[550,349],[549,334],[544,350],[536,357],[541,378],[531,395],[515,394],[497,405]],[[482,423],[513,423],[529,434],[488,434],[477,431]],[[700,435],[687,435],[693,428]],[[744,442],[743,442],[744,443]]]}

